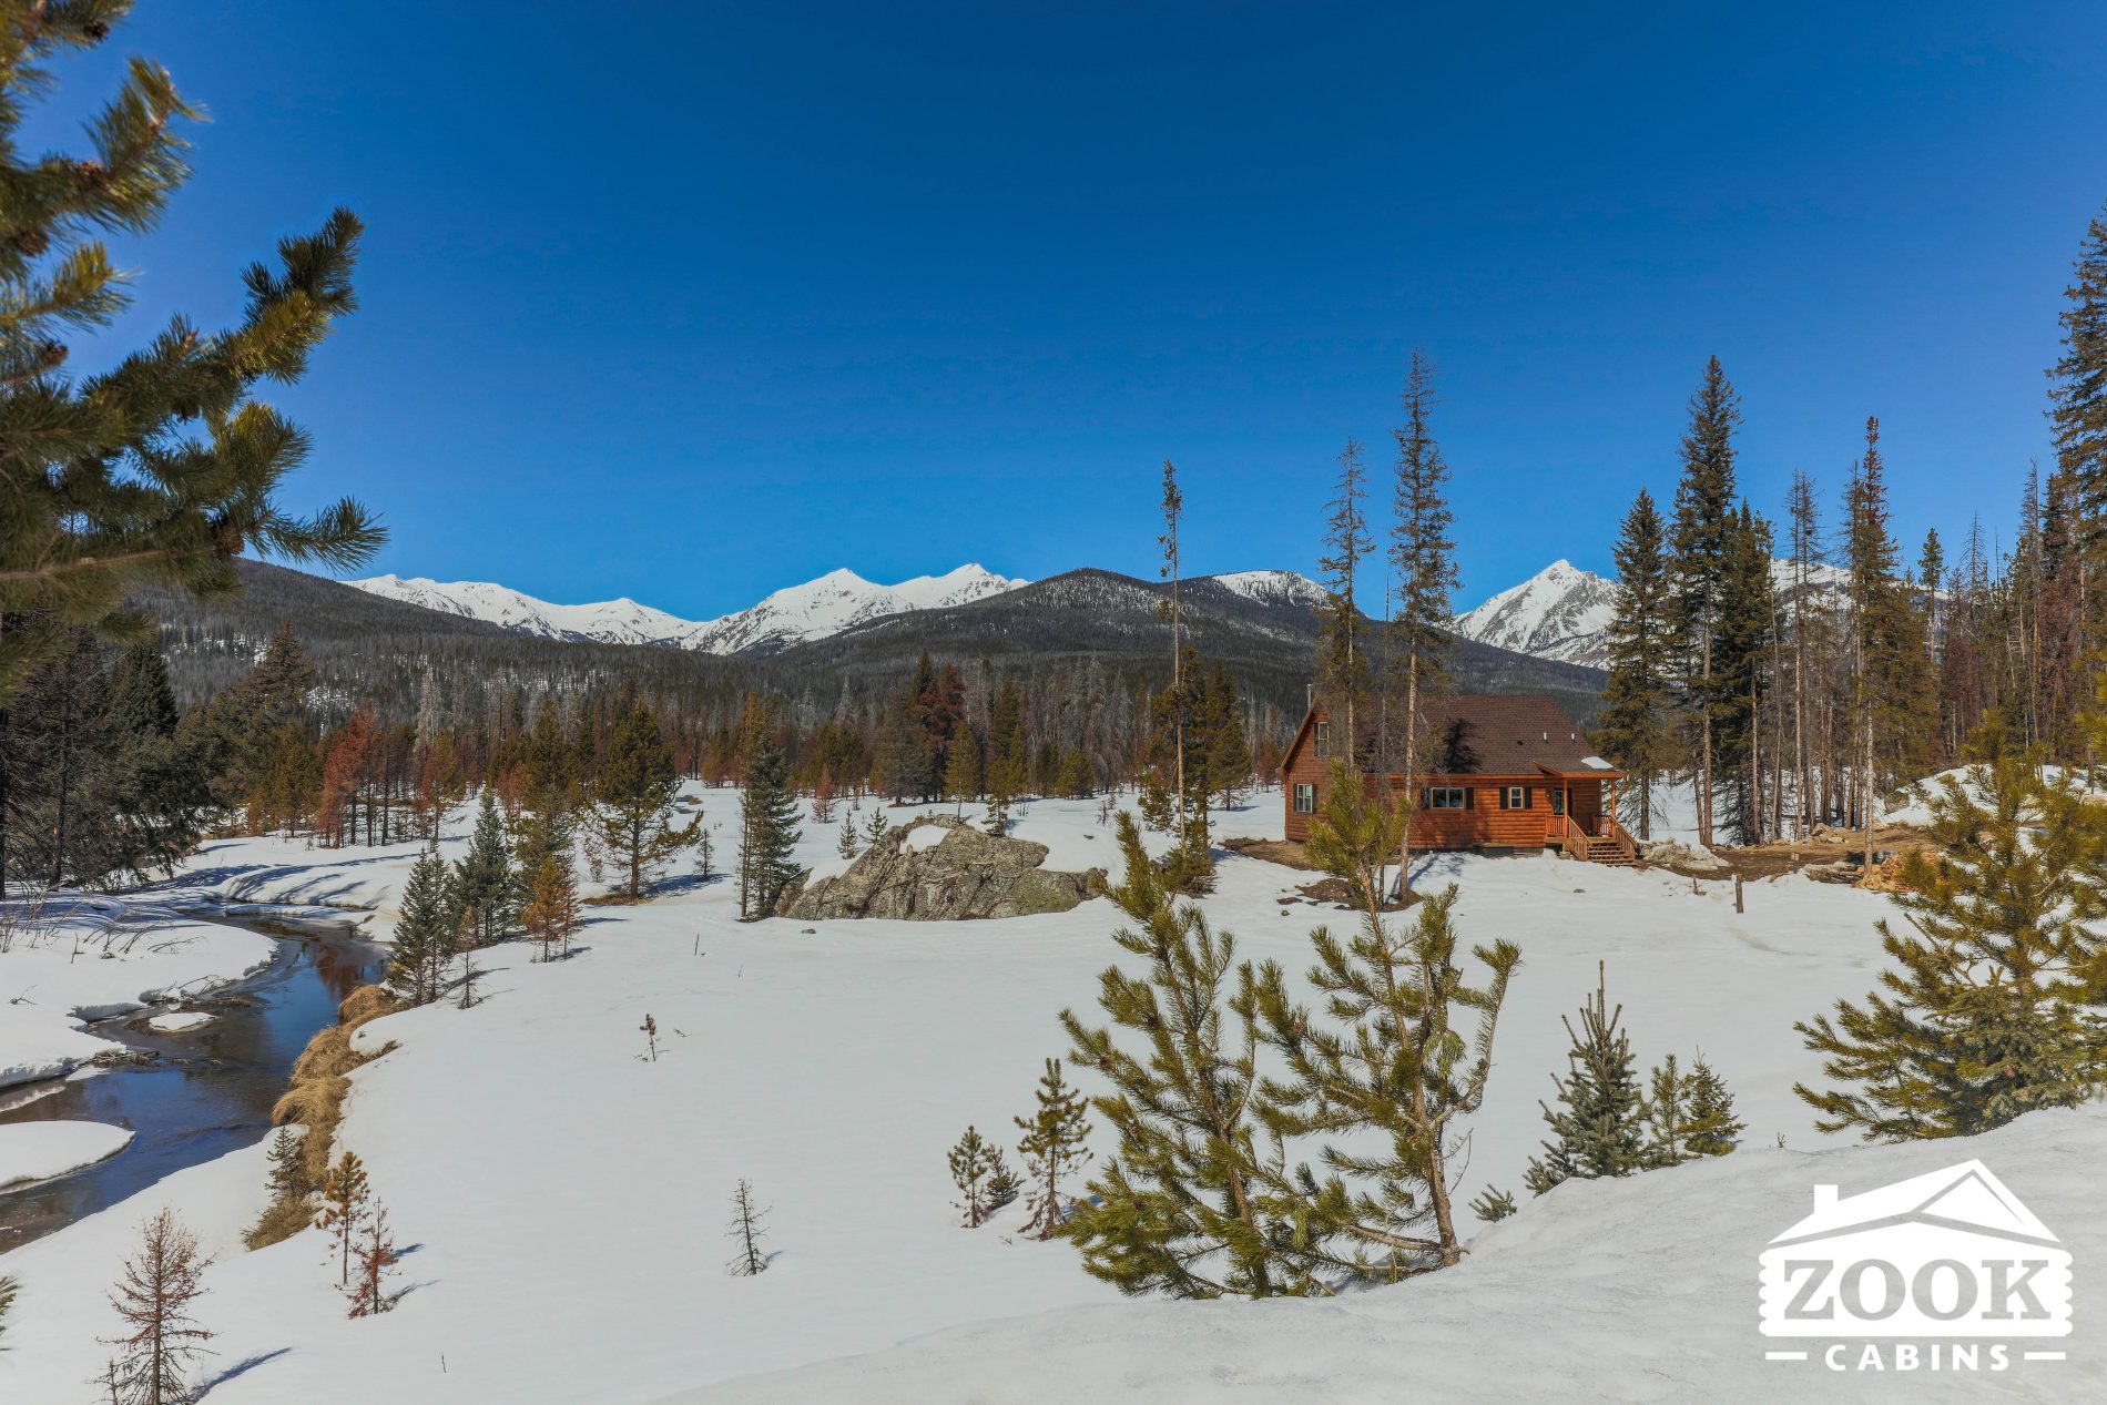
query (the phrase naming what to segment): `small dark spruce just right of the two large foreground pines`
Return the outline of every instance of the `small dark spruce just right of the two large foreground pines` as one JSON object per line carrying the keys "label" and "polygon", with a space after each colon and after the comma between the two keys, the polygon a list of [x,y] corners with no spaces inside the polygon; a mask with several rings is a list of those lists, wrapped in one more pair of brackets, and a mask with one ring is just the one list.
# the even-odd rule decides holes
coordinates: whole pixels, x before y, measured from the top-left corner
{"label": "small dark spruce just right of the two large foreground pines", "polygon": [[1540,1159],[1530,1159],[1523,1175],[1536,1194],[1570,1178],[1631,1175],[1648,1167],[1646,1097],[1631,1062],[1631,1041],[1618,1028],[1622,1015],[1622,1005],[1610,1009],[1597,969],[1595,994],[1580,1007],[1580,1028],[1566,1020],[1572,1049],[1566,1053],[1566,1076],[1553,1076],[1559,1106],[1538,1104],[1551,1140]]}

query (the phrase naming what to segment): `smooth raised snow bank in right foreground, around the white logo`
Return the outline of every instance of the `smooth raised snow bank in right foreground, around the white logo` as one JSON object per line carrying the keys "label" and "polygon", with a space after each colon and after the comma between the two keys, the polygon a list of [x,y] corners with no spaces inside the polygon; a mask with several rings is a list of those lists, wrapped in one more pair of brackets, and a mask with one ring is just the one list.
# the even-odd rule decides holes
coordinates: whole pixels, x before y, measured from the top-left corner
{"label": "smooth raised snow bank in right foreground, around the white logo", "polygon": [[[2107,1110],[2035,1112],[1995,1133],[1818,1152],[1751,1148],[1618,1182],[1570,1182],[1483,1230],[1458,1268],[1336,1300],[1123,1302],[944,1331],[662,1405],[1070,1405],[1148,1401],[2078,1401],[2107,1388],[2096,1209]],[[2075,1255],[2069,1361],[2002,1373],[1833,1371],[1766,1361],[1757,1253],[1812,1188],[1856,1194],[1968,1159]],[[1858,1359],[1852,1346],[1850,1361]],[[1892,1361],[1892,1359],[1890,1359]],[[1890,1367],[1892,1371],[1892,1367]]]}

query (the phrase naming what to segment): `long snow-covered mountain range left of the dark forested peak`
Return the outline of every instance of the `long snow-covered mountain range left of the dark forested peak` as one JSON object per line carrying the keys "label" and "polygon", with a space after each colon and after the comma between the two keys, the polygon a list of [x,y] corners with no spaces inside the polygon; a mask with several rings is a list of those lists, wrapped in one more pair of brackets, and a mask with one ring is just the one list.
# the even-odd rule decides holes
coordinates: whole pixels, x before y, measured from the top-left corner
{"label": "long snow-covered mountain range left of the dark forested peak", "polygon": [[788,586],[759,605],[718,619],[681,619],[628,598],[596,605],[550,605],[491,581],[434,581],[400,575],[346,581],[346,586],[375,596],[447,615],[485,619],[518,634],[607,645],[664,645],[702,653],[773,653],[809,638],[839,634],[879,615],[967,605],[1024,583],[976,565],[959,567],[946,575],[917,575],[898,586],[866,581],[855,571],[830,571],[815,581]]}

